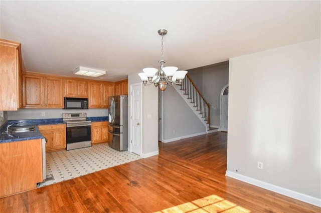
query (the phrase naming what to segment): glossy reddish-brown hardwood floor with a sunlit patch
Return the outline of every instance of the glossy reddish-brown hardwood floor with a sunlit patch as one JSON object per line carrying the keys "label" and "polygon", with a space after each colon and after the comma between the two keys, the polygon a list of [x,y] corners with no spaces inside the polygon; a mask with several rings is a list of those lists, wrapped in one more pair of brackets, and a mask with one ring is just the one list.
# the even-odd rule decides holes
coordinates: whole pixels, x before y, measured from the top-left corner
{"label": "glossy reddish-brown hardwood floor with a sunlit patch", "polygon": [[226,177],[226,151],[225,132],[159,143],[158,156],[2,198],[0,212],[321,212]]}

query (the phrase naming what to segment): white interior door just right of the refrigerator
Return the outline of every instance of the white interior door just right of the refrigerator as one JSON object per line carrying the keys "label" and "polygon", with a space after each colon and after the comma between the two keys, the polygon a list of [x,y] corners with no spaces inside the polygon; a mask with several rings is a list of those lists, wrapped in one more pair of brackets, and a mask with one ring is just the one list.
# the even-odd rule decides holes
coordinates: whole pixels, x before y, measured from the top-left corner
{"label": "white interior door just right of the refrigerator", "polygon": [[141,83],[130,85],[131,151],[141,155]]}

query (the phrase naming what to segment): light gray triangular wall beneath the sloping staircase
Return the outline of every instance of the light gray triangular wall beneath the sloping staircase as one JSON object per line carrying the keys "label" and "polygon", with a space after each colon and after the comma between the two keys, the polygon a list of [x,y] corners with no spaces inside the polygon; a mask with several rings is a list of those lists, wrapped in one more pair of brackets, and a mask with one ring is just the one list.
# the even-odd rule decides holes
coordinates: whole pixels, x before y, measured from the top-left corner
{"label": "light gray triangular wall beneath the sloping staircase", "polygon": [[162,141],[169,142],[204,132],[205,125],[175,88],[168,86],[163,92]]}

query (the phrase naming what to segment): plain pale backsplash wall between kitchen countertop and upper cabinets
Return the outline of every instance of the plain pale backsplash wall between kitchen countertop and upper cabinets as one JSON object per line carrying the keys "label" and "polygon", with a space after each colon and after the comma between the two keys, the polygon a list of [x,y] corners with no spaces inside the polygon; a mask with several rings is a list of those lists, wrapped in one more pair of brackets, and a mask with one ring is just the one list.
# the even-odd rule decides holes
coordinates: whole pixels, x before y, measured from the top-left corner
{"label": "plain pale backsplash wall between kitchen countertop and upper cabinets", "polygon": [[23,108],[8,111],[8,120],[62,118],[62,113],[86,112],[87,117],[108,116],[107,108],[97,109],[54,109],[54,108]]}

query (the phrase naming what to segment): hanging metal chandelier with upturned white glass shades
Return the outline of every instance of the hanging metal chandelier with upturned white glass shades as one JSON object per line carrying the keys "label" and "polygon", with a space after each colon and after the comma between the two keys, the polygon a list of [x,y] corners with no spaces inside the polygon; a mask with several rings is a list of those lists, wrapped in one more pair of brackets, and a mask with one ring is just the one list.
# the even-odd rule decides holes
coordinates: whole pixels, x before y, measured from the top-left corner
{"label": "hanging metal chandelier with upturned white glass shades", "polygon": [[167,84],[170,84],[171,86],[182,85],[187,71],[177,71],[178,67],[176,66],[164,66],[164,63],[166,62],[164,60],[164,35],[167,34],[167,30],[159,29],[158,34],[162,36],[162,59],[158,61],[158,63],[161,64],[161,69],[158,70],[152,67],[143,68],[143,72],[138,73],[138,75],[144,85],[153,83],[155,87],[158,86],[158,89],[163,92],[166,89]]}

